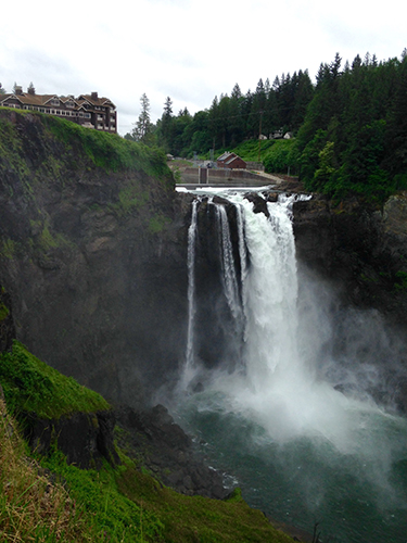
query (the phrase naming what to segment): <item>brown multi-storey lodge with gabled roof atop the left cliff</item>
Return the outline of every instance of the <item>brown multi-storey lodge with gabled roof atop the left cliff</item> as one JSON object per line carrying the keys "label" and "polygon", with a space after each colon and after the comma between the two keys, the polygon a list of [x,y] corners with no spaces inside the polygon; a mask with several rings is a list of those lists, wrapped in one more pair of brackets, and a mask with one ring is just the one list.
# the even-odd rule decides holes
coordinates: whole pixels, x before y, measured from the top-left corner
{"label": "brown multi-storey lodge with gabled roof atop the left cliff", "polygon": [[109,98],[99,98],[98,92],[59,97],[56,94],[36,94],[33,86],[27,92],[15,87],[9,94],[0,94],[0,106],[18,110],[33,110],[66,118],[78,125],[97,130],[117,132],[116,106]]}

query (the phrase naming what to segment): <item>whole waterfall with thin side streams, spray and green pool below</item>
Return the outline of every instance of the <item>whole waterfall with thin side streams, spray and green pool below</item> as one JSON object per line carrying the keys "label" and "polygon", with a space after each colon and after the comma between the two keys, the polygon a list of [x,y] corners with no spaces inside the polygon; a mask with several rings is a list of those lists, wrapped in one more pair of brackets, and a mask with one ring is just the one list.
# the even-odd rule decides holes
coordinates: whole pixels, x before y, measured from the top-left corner
{"label": "whole waterfall with thin side streams, spray and green pool below", "polygon": [[[205,389],[182,395],[180,416],[206,440],[213,462],[236,475],[250,504],[276,519],[310,532],[318,521],[331,542],[406,543],[407,424],[366,392],[371,365],[352,357],[352,345],[345,361],[327,349],[334,326],[327,317],[322,285],[308,289],[298,279],[292,199],[268,203],[266,217],[254,213],[240,193],[228,198],[237,205],[241,274],[239,283],[227,215],[219,206],[221,280],[231,314],[244,321],[234,337],[244,370],[231,372],[221,359],[216,368],[201,368],[207,374]],[[196,228],[195,204],[182,387],[193,358],[196,307],[190,257]],[[310,291],[314,298],[307,298]],[[358,324],[359,333],[369,326],[368,320]],[[394,356],[380,350],[378,357]],[[335,390],[349,371],[354,389],[364,394]]]}

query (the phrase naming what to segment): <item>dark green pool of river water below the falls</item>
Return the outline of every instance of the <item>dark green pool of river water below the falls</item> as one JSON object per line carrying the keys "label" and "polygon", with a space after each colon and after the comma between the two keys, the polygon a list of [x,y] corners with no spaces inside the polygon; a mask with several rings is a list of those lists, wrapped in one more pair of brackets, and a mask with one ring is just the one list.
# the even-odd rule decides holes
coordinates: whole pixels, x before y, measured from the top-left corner
{"label": "dark green pool of river water below the falls", "polygon": [[229,409],[228,399],[211,391],[189,396],[177,413],[251,506],[309,533],[318,522],[322,542],[407,542],[406,420],[356,413],[358,443],[368,451],[341,452],[320,435],[278,443],[250,416]]}

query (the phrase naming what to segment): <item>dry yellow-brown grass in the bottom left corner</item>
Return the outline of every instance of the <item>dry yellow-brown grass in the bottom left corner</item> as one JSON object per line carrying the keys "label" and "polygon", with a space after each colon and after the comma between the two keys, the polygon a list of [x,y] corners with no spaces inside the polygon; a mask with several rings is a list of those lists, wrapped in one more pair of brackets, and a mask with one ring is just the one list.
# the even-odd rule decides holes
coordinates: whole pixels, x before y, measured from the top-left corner
{"label": "dry yellow-brown grass in the bottom left corner", "polygon": [[0,541],[91,543],[89,519],[62,484],[41,475],[26,454],[0,399]]}

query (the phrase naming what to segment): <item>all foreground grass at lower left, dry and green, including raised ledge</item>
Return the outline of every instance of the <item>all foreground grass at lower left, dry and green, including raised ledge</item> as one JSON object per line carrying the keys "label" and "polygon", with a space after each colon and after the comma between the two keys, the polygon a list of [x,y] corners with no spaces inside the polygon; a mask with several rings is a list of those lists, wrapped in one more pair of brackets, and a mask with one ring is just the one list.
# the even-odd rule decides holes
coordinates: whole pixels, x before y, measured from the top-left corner
{"label": "all foreground grass at lower left, dry and green, including raised ledge", "polygon": [[[12,353],[0,356],[0,383],[12,409],[36,411],[44,417],[109,407],[99,394],[62,376],[16,342]],[[239,491],[224,502],[178,494],[142,472],[123,452],[122,466],[105,465],[100,471],[67,466],[58,449],[50,457],[34,460],[2,401],[0,412],[0,539],[47,543],[292,541],[259,510],[251,509]]]}

